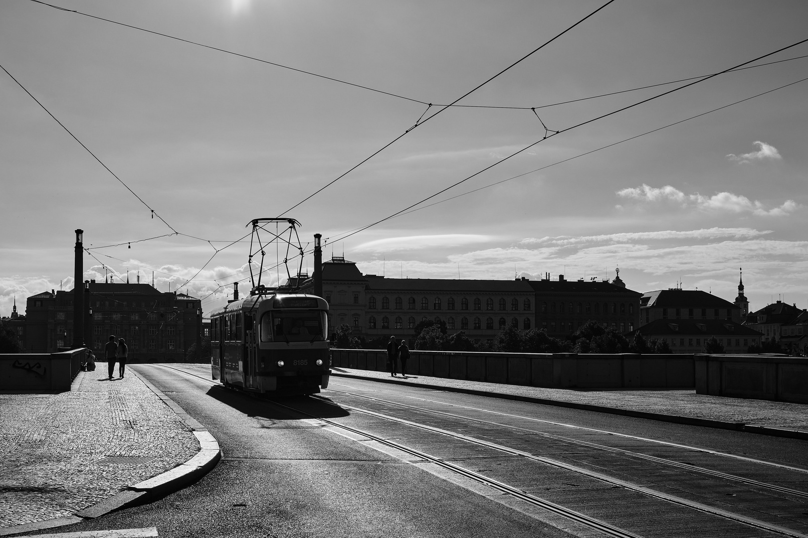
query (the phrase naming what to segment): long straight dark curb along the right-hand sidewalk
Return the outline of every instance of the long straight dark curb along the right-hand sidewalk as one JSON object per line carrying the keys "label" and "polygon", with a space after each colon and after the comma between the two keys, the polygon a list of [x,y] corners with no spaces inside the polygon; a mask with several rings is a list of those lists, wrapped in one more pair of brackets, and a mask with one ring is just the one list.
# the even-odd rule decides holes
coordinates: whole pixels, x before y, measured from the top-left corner
{"label": "long straight dark curb along the right-hand sidewalk", "polygon": [[620,409],[618,407],[596,406],[590,403],[564,402],[562,400],[551,400],[548,398],[534,398],[532,396],[522,396],[520,394],[503,394],[490,390],[463,389],[454,386],[431,385],[429,383],[406,382],[396,379],[386,379],[384,377],[363,376],[355,373],[339,373],[331,370],[331,375],[336,377],[352,377],[354,379],[364,379],[391,385],[417,386],[422,389],[445,390],[447,392],[458,392],[462,394],[474,394],[475,396],[487,396],[489,398],[502,398],[506,400],[516,400],[519,402],[538,403],[546,406],[570,407],[583,411],[595,411],[598,413],[608,413],[610,415],[624,415],[637,419],[657,420],[659,422],[671,422],[686,424],[688,426],[714,427],[722,430],[734,430],[736,432],[756,433],[764,436],[788,437],[789,439],[808,440],[808,432],[802,430],[788,430],[781,427],[755,426],[743,422],[726,422],[712,419],[696,419],[695,417],[680,415],[664,415],[663,413],[649,413],[647,411],[632,411],[630,409]]}

